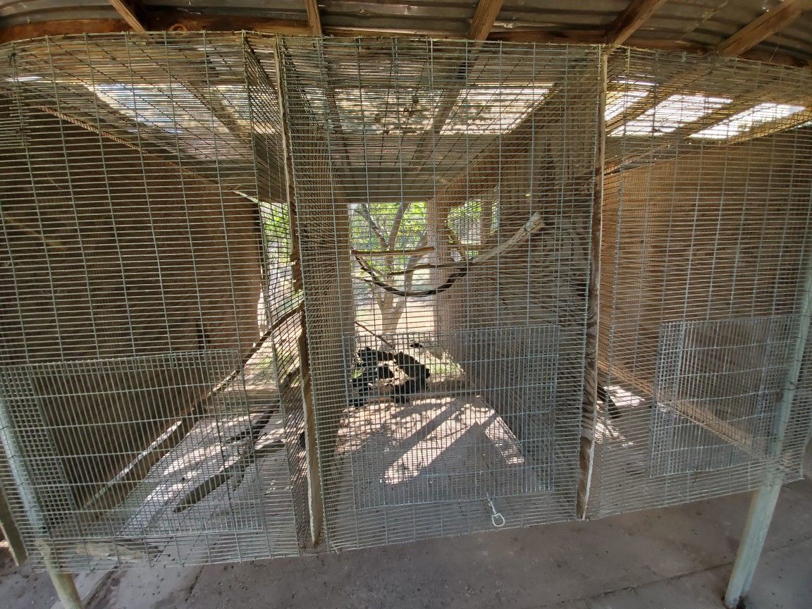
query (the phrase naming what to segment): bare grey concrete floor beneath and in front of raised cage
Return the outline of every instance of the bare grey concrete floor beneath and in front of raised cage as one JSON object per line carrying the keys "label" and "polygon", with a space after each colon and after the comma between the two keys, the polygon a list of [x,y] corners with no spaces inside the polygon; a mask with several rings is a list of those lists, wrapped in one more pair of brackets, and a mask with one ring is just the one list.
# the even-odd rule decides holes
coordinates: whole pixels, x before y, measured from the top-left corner
{"label": "bare grey concrete floor beneath and in front of raised cage", "polygon": [[[719,609],[749,497],[366,551],[83,577],[89,609]],[[3,551],[0,551],[3,552]],[[50,609],[0,554],[0,607]],[[784,487],[748,609],[812,607],[812,481]],[[61,606],[58,606],[61,607]]]}

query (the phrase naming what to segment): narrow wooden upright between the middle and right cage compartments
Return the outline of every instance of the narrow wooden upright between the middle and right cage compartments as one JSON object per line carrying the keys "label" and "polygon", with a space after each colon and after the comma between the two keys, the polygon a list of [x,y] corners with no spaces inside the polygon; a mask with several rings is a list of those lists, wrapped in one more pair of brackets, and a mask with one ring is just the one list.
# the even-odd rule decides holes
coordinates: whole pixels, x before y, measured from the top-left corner
{"label": "narrow wooden upright between the middle and right cage compartments", "polygon": [[592,230],[590,243],[590,283],[586,305],[586,343],[584,352],[584,394],[581,402],[581,447],[579,462],[581,474],[578,479],[577,515],[586,518],[586,506],[590,499],[590,482],[594,458],[595,422],[598,401],[598,315],[600,313],[601,285],[601,239],[603,235],[603,149],[606,130],[603,114],[606,109],[607,54],[601,56],[598,125],[595,146],[595,179],[592,205]]}

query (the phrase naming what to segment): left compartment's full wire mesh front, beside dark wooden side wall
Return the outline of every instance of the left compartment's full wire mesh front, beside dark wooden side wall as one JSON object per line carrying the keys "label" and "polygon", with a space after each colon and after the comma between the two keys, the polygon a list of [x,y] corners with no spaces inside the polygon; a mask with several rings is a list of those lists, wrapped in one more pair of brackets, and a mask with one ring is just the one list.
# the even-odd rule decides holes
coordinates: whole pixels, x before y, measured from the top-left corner
{"label": "left compartment's full wire mesh front, beside dark wooden side wall", "polygon": [[297,554],[274,68],[231,35],[0,52],[0,475],[29,553],[66,571]]}

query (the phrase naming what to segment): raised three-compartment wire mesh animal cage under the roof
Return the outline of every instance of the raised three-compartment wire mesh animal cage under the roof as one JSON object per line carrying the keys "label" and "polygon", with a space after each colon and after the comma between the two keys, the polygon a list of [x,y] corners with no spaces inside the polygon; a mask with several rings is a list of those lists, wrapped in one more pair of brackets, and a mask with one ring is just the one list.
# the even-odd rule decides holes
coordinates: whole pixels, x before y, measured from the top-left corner
{"label": "raised three-compartment wire mesh animal cage under the roof", "polygon": [[605,45],[0,47],[4,527],[77,572],[780,488],[810,91]]}

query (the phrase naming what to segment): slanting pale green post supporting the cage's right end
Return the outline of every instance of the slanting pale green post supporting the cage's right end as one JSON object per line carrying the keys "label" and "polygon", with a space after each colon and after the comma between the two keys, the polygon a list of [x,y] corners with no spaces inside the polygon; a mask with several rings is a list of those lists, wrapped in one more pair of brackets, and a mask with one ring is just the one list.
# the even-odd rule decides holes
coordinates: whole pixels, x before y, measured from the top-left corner
{"label": "slanting pale green post supporting the cage's right end", "polygon": [[758,565],[767,530],[770,528],[772,514],[781,485],[784,482],[784,470],[781,467],[781,453],[784,450],[784,437],[787,434],[790,411],[793,408],[798,378],[801,375],[801,362],[806,352],[806,342],[810,334],[810,317],[812,317],[812,252],[806,253],[804,283],[801,287],[801,311],[798,333],[793,346],[793,359],[784,379],[784,391],[773,423],[770,443],[767,446],[767,471],[765,479],[750,503],[741,545],[733,564],[733,572],[724,594],[724,604],[734,609],[747,594]]}

